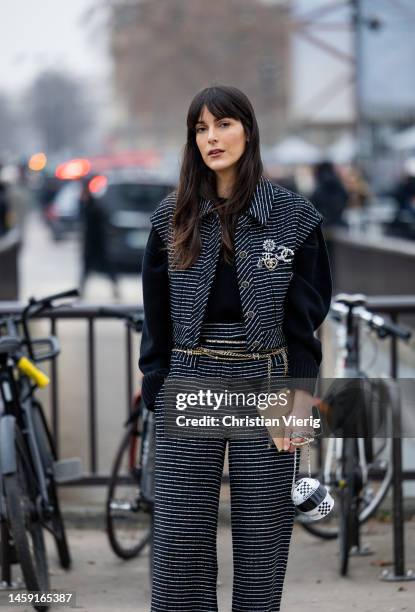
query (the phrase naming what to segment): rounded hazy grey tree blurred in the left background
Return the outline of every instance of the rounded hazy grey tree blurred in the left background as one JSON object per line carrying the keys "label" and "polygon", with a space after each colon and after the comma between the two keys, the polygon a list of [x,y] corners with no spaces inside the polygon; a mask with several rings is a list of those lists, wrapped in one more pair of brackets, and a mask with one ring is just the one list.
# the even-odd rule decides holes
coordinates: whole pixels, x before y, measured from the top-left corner
{"label": "rounded hazy grey tree blurred in the left background", "polygon": [[48,70],[35,79],[29,95],[32,120],[48,153],[83,145],[91,113],[78,80]]}

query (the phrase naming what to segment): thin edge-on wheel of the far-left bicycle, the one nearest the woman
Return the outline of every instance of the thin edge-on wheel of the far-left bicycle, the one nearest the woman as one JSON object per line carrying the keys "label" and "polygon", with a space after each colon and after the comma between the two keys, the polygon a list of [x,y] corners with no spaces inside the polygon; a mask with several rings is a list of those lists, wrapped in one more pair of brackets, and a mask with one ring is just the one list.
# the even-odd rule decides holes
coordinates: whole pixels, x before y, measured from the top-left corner
{"label": "thin edge-on wheel of the far-left bicycle, the one nearest the woman", "polygon": [[33,426],[36,433],[42,465],[47,478],[49,503],[51,507],[51,512],[49,515],[50,518],[48,520],[48,529],[55,540],[61,567],[63,569],[69,569],[72,565],[71,553],[66,537],[65,524],[60,510],[58,491],[53,474],[53,462],[57,459],[55,445],[47,426],[41,404],[34,400],[32,405]]}

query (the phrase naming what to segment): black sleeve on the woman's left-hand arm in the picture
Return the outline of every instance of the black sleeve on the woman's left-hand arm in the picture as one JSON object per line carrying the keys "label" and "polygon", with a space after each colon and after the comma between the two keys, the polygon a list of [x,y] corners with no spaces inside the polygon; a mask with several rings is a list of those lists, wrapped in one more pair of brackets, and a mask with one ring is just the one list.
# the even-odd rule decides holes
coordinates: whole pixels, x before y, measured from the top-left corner
{"label": "black sleeve on the woman's left-hand arm in the picture", "polygon": [[154,228],[144,253],[142,282],[144,325],[138,365],[144,374],[142,398],[146,407],[153,410],[157,393],[169,373],[173,348],[167,251]]}

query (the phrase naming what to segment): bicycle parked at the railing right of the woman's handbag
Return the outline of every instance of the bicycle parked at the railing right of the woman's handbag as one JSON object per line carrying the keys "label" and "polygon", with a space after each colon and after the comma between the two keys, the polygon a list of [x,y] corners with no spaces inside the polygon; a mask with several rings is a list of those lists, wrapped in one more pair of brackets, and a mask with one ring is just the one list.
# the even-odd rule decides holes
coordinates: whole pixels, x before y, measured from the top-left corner
{"label": "bicycle parked at the railing right of the woman's handbag", "polygon": [[[370,554],[367,547],[360,545],[360,526],[378,509],[392,482],[391,461],[391,420],[388,409],[391,401],[388,380],[370,380],[360,368],[360,324],[364,322],[379,339],[397,337],[409,340],[411,332],[386,321],[383,317],[369,312],[365,307],[366,298],[361,294],[339,294],[334,298],[330,314],[339,328],[339,344],[335,376],[347,379],[342,389],[339,381],[323,398],[319,408],[324,406],[338,413],[338,426],[342,437],[328,437],[323,449],[320,440],[319,452],[323,457],[317,477],[330,490],[336,503],[324,519],[315,523],[301,521],[301,525],[323,539],[339,538],[340,574],[347,575],[351,554]],[[362,401],[363,400],[363,401]],[[359,410],[353,423],[353,433],[347,436],[347,411],[353,406]],[[383,437],[372,437],[383,425]],[[336,430],[336,425],[334,426]],[[349,432],[350,433],[350,432]],[[357,434],[359,434],[357,436]]]}

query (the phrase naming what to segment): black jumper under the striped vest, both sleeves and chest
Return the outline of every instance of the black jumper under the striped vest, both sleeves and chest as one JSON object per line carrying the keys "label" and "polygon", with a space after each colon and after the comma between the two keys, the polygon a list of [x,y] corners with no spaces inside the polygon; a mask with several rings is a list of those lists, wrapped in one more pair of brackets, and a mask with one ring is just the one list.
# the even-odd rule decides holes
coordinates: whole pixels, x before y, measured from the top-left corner
{"label": "black jumper under the striped vest, both sleeves and chest", "polygon": [[[142,396],[150,409],[169,372],[172,331],[168,304],[167,251],[151,229],[142,269],[144,326],[139,367],[144,374]],[[314,331],[323,322],[331,300],[331,274],[321,225],[314,229],[294,256],[293,277],[285,300],[284,335],[289,376],[313,380],[321,363],[321,343]],[[205,321],[243,321],[235,264],[228,264],[221,250],[210,291]],[[304,380],[304,389],[313,383]]]}

